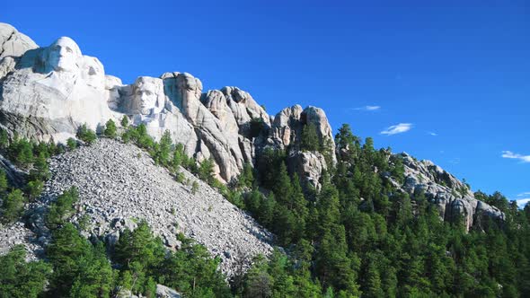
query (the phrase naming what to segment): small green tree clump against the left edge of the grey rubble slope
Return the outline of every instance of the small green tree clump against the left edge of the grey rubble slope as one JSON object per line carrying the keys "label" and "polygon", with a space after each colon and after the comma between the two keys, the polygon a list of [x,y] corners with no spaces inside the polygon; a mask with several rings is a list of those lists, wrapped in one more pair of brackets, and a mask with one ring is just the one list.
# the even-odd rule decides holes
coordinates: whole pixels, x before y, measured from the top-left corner
{"label": "small green tree clump against the left edge of the grey rubble slope", "polygon": [[50,229],[57,229],[60,225],[66,223],[66,220],[75,214],[75,203],[79,198],[77,188],[72,187],[57,197],[57,200],[49,206],[49,212],[46,216],[46,225]]}

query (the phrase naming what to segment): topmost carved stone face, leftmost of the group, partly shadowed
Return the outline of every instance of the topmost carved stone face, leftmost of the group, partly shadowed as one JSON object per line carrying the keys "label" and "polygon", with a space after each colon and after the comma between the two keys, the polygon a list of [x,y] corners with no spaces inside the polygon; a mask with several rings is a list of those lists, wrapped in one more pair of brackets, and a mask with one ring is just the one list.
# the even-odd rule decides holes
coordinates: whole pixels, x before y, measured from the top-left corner
{"label": "topmost carved stone face, leftmost of the group, partly shadowed", "polygon": [[77,59],[81,57],[81,50],[73,39],[59,38],[47,51],[46,64],[51,70],[74,72],[78,69]]}

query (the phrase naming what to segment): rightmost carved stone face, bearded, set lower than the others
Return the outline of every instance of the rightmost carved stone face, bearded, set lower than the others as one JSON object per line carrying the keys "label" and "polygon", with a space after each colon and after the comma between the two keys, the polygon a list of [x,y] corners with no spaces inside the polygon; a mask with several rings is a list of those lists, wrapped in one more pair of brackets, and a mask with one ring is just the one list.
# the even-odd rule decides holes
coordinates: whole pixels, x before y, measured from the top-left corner
{"label": "rightmost carved stone face, bearded, set lower than the others", "polygon": [[156,114],[163,110],[162,80],[140,76],[133,88],[132,110],[142,115]]}

